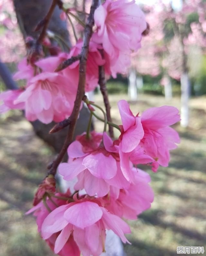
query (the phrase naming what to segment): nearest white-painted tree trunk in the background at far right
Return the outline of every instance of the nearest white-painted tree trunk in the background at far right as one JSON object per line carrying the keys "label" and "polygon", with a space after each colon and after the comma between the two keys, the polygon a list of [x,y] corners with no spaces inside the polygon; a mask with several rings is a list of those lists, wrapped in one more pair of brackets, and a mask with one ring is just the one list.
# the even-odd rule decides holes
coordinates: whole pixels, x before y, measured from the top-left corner
{"label": "nearest white-painted tree trunk in the background at far right", "polygon": [[189,123],[189,97],[190,80],[187,73],[181,76],[181,126],[187,127]]}

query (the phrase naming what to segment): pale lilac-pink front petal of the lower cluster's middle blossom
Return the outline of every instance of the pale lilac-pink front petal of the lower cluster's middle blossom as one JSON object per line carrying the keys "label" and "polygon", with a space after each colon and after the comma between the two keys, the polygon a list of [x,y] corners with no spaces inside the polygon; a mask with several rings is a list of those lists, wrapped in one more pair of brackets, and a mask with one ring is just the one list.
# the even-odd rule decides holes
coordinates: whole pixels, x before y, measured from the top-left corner
{"label": "pale lilac-pink front petal of the lower cluster's middle blossom", "polygon": [[84,158],[82,164],[97,178],[111,179],[117,173],[116,160],[111,155],[90,154]]}

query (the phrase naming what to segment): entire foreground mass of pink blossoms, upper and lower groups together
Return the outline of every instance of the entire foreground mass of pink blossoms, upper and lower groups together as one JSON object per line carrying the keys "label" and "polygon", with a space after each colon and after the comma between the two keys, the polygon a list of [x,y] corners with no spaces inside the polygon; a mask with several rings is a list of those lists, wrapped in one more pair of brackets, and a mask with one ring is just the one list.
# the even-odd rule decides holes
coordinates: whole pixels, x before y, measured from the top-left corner
{"label": "entire foreground mass of pink blossoms, upper and lower groups together", "polygon": [[[134,0],[107,0],[95,10],[93,19],[93,34],[86,47],[86,92],[98,86],[99,67],[104,67],[106,77],[126,72],[147,28]],[[32,44],[30,40],[28,45]],[[52,49],[46,38],[42,44]],[[49,57],[23,59],[14,78],[24,79],[26,85],[0,94],[0,112],[23,109],[29,121],[39,119],[45,124],[70,118],[79,93],[84,47],[84,39],[79,39],[68,53],[55,51],[52,55],[50,51]],[[68,60],[73,61],[62,68]],[[61,256],[99,256],[105,252],[106,230],[129,243],[125,234],[130,228],[122,218],[135,220],[154,199],[150,176],[138,165],[147,165],[154,172],[160,165],[167,167],[169,151],[179,143],[178,133],[170,127],[180,120],[174,107],[149,108],[134,115],[126,100],[120,100],[122,125],[117,126],[107,120],[98,105],[86,97],[81,99],[91,116],[104,122],[104,131],[90,132],[89,122],[87,132],[68,144],[68,162],[58,167],[59,174],[70,183],[68,191],[56,189],[55,172],[49,173],[27,212],[33,212],[42,239]],[[104,119],[94,113],[96,108],[102,110]],[[117,139],[107,134],[107,124],[119,130]]]}

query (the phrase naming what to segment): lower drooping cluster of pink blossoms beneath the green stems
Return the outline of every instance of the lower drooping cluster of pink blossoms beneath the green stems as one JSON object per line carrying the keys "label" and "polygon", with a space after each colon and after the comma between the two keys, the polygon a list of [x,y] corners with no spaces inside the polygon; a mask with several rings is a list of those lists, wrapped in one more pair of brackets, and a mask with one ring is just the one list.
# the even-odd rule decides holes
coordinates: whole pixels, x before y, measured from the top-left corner
{"label": "lower drooping cluster of pink blossoms beneath the green stems", "polygon": [[167,166],[169,150],[179,143],[169,127],[180,120],[176,108],[149,108],[134,116],[125,100],[118,107],[122,125],[117,140],[92,131],[70,144],[68,163],[60,164],[59,173],[72,181],[74,194],[54,192],[53,179],[47,178],[36,194],[49,195],[47,207],[40,202],[28,212],[34,211],[42,238],[61,256],[100,255],[106,230],[129,242],[125,234],[130,228],[121,218],[135,220],[154,199],[150,176],[137,165],[148,164],[154,171]]}

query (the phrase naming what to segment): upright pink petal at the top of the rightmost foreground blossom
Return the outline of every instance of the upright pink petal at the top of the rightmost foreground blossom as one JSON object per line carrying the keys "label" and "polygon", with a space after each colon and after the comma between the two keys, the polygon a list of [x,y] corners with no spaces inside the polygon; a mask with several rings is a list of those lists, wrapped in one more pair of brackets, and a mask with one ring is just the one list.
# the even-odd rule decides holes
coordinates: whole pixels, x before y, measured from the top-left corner
{"label": "upright pink petal at the top of the rightmost foreground blossom", "polygon": [[135,117],[129,108],[129,104],[126,100],[120,100],[118,102],[119,113],[122,120],[124,131],[135,125]]}

